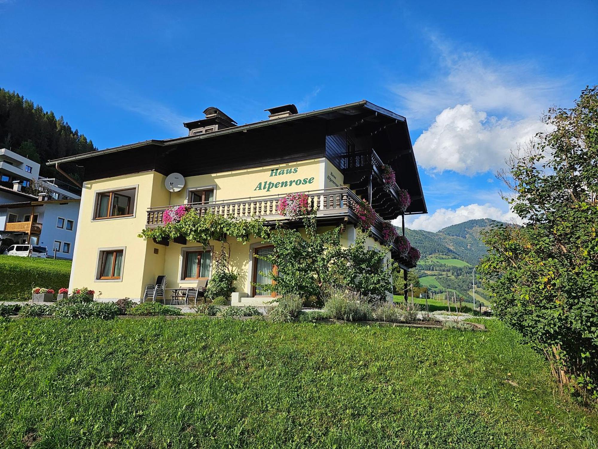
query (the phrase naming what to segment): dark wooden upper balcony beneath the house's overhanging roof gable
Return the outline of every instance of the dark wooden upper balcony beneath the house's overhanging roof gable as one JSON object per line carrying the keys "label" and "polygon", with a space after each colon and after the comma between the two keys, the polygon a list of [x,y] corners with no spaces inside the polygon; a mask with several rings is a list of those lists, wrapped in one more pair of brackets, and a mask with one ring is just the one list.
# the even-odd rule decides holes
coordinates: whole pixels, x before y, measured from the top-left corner
{"label": "dark wooden upper balcony beneath the house's overhanging roof gable", "polygon": [[370,198],[371,205],[386,220],[396,219],[400,204],[396,182],[387,185],[384,181],[385,163],[373,148],[365,151],[350,151],[340,159],[344,183],[364,198]]}

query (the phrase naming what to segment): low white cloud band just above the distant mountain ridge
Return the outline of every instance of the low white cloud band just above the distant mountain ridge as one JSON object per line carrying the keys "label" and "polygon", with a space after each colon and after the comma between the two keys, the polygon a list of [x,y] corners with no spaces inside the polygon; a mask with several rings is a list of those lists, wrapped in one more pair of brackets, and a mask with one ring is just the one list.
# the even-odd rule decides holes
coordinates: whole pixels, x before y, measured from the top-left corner
{"label": "low white cloud band just above the distant mountain ridge", "polygon": [[507,223],[518,223],[512,212],[504,212],[498,207],[487,204],[469,204],[456,209],[437,209],[434,214],[405,217],[405,226],[409,229],[423,229],[436,232],[443,227],[456,225],[473,219],[493,219]]}

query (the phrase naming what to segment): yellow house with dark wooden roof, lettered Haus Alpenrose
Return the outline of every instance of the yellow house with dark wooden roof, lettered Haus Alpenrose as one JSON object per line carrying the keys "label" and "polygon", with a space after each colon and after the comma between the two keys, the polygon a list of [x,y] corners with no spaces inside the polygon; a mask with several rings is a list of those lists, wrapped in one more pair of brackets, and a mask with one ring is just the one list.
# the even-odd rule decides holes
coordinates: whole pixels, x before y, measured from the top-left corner
{"label": "yellow house with dark wooden roof, lettered Haus Alpenrose", "polygon": [[[162,226],[164,211],[175,205],[274,223],[287,220],[277,213],[279,199],[303,192],[316,205],[318,226],[344,223],[343,244],[349,245],[359,223],[357,205],[365,199],[376,211],[366,242],[371,249],[382,247],[385,222],[427,212],[404,117],[367,101],[309,113],[294,105],[268,111],[268,120],[237,125],[208,108],[204,119],[184,124],[187,136],[48,162],[59,171],[64,163],[84,167],[69,289],[140,299],[158,275],[166,275],[169,289],[209,278],[220,242],[205,247],[138,237],[145,227]],[[396,181],[389,182],[389,171]],[[411,196],[407,210],[401,190]],[[239,275],[233,304],[260,299],[254,284],[271,267],[254,255],[269,247],[258,238],[228,243],[230,267]],[[399,248],[390,247],[388,257],[407,268]]]}

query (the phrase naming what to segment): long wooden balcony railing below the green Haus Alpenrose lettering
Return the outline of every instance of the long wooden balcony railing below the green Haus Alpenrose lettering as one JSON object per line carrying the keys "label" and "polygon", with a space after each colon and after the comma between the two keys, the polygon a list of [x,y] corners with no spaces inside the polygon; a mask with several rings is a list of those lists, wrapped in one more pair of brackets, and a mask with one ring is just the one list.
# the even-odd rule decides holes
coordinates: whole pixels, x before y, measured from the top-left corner
{"label": "long wooden balcony railing below the green Haus Alpenrose lettering", "polygon": [[[319,222],[342,222],[347,220],[350,223],[358,224],[359,219],[356,214],[358,204],[361,202],[355,193],[348,187],[334,187],[332,189],[310,190],[306,193],[309,196],[310,205],[315,209],[316,217]],[[193,208],[198,214],[202,215],[208,212],[222,215],[229,218],[264,219],[267,224],[273,225],[276,222],[289,219],[280,216],[277,212],[278,202],[285,194],[256,196],[249,198],[231,199],[225,201],[214,201],[209,204],[190,203],[185,206]],[[179,205],[170,205],[162,207],[152,207],[148,209],[146,227],[157,227],[162,225],[164,211],[178,207]],[[384,220],[376,214],[376,222],[371,227],[372,235],[379,241],[382,241],[382,226]],[[397,250],[396,247],[392,247]]]}

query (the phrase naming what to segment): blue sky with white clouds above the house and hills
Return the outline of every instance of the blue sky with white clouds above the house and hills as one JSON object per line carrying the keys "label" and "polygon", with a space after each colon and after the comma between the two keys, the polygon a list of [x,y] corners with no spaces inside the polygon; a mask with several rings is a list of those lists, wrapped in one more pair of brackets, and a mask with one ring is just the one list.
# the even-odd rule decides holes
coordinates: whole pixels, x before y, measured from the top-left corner
{"label": "blue sky with white clouds above the house and hills", "polygon": [[[511,219],[495,172],[598,83],[598,2],[0,0],[0,86],[102,149],[368,99],[407,117],[428,204],[408,225]],[[456,4],[455,4],[456,3]]]}

